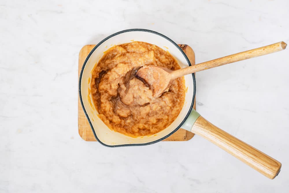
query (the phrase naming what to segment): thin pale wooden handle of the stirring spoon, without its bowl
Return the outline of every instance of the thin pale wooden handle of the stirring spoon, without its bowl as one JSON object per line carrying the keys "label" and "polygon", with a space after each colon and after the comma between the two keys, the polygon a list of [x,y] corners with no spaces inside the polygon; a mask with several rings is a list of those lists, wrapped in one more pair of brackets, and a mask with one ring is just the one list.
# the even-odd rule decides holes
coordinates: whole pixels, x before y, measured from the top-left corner
{"label": "thin pale wooden handle of the stirring spoon, without its bowl", "polygon": [[241,61],[241,60],[246,60],[246,59],[249,59],[249,58],[253,58],[253,57],[262,56],[262,55],[274,53],[274,52],[277,52],[277,51],[281,51],[281,50],[284,50],[286,48],[286,46],[287,46],[287,44],[285,42],[278,42],[278,43],[275,43],[275,44],[271,44],[271,45],[268,45],[268,46],[256,48],[256,49],[253,49],[253,50],[248,50],[248,51],[244,51],[244,52],[228,55],[228,56],[225,56],[225,57],[220,57],[220,58],[217,58],[215,60],[210,60],[208,62],[203,62],[203,63],[196,64],[196,65],[193,65],[193,66],[182,68],[180,70],[175,70],[171,74],[172,74],[173,78],[175,79],[177,77],[181,77],[181,76],[184,76],[184,75],[187,75],[187,74],[192,74],[192,73],[199,72],[199,71],[202,71],[202,70],[214,68],[214,67],[217,67],[217,66],[222,66],[222,65],[225,65],[225,64],[230,64],[230,63],[233,63],[233,62],[238,62],[238,61]]}

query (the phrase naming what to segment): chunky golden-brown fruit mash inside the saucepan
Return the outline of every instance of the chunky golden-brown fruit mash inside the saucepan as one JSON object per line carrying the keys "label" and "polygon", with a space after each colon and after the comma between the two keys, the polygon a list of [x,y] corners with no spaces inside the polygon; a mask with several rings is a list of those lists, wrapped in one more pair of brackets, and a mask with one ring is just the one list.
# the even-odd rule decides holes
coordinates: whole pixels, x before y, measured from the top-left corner
{"label": "chunky golden-brown fruit mash inside the saucepan", "polygon": [[92,101],[99,118],[112,130],[131,137],[165,129],[179,115],[185,98],[184,77],[175,79],[168,92],[153,97],[135,73],[141,66],[177,70],[167,51],[146,42],[120,44],[108,49],[92,70]]}

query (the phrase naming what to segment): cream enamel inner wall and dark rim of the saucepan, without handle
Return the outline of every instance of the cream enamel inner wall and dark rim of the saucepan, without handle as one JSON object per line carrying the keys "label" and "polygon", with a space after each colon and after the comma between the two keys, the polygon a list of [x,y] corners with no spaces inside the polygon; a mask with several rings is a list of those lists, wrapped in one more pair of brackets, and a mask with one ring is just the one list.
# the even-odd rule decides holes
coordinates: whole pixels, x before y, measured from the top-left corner
{"label": "cream enamel inner wall and dark rim of the saucepan, without handle", "polygon": [[[88,94],[88,89],[90,88],[89,80],[91,79],[91,71],[95,64],[103,56],[104,51],[113,45],[128,43],[131,41],[148,42],[150,44],[155,44],[164,50],[168,50],[169,53],[175,57],[181,68],[187,67],[189,64],[187,57],[177,46],[177,44],[167,37],[153,31],[142,29],[125,30],[113,34],[100,42],[92,50],[92,53],[88,55],[88,58],[84,63],[84,67],[80,75],[79,94],[84,111],[86,112],[86,116],[91,123],[92,129],[95,131],[97,140],[107,146],[147,144],[168,137],[171,133],[173,133],[173,131],[181,126],[181,123],[186,119],[193,105],[194,81],[192,75],[186,75],[185,84],[188,91],[186,92],[184,107],[182,108],[177,119],[170,126],[155,135],[138,138],[125,136],[121,133],[112,131],[102,122],[101,119],[98,118],[98,112],[94,110],[95,108],[92,107],[93,102],[90,101],[92,97]],[[185,123],[181,127],[190,130],[192,125],[190,123]]]}

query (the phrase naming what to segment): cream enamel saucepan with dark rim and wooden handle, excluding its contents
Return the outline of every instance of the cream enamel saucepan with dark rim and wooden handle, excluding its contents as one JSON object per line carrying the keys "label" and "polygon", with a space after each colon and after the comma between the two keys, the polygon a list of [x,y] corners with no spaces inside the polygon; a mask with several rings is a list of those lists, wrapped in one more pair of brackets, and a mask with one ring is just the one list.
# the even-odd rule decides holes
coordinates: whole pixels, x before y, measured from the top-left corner
{"label": "cream enamel saucepan with dark rim and wooden handle, excluding its contents", "polygon": [[181,48],[168,37],[155,31],[128,29],[112,34],[99,42],[86,58],[79,77],[80,102],[97,141],[108,147],[148,145],[167,138],[181,127],[216,144],[268,178],[273,179],[278,175],[280,162],[214,126],[192,108],[196,93],[194,74],[184,76],[188,88],[184,106],[176,120],[164,130],[152,136],[131,138],[109,129],[97,116],[98,112],[88,91],[90,88],[88,82],[93,67],[103,56],[104,51],[112,45],[128,43],[131,40],[148,42],[161,48],[167,47],[181,68],[190,66],[190,61]]}

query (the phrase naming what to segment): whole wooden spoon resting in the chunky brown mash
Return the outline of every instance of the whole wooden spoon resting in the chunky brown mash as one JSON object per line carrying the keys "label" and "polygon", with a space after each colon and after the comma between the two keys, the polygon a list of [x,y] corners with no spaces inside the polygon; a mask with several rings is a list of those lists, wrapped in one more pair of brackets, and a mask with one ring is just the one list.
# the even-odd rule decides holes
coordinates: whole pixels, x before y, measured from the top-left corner
{"label": "whole wooden spoon resting in the chunky brown mash", "polygon": [[136,77],[138,77],[144,83],[147,83],[153,92],[153,96],[158,97],[161,96],[163,92],[168,91],[173,81],[178,77],[214,68],[217,66],[222,66],[225,64],[230,64],[233,62],[238,62],[241,60],[246,60],[249,58],[281,51],[284,50],[286,46],[287,44],[285,42],[278,42],[253,50],[248,50],[217,58],[215,60],[210,60],[208,62],[203,62],[179,70],[169,70],[168,68],[160,66],[144,66],[137,71]]}

